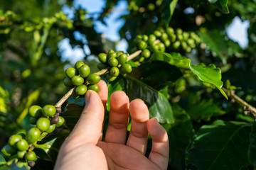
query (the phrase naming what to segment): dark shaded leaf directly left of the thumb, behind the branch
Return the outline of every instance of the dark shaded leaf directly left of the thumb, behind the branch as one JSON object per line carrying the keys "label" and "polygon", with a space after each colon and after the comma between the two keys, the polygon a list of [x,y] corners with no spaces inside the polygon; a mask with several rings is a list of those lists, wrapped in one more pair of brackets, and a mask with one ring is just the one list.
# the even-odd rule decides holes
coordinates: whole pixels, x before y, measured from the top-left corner
{"label": "dark shaded leaf directly left of the thumb, behind the branch", "polygon": [[66,106],[66,109],[67,111],[61,113],[61,116],[65,118],[65,123],[68,126],[68,128],[70,128],[70,130],[73,130],[75,124],[78,122],[78,119],[80,118],[80,115],[84,107],[71,103]]}

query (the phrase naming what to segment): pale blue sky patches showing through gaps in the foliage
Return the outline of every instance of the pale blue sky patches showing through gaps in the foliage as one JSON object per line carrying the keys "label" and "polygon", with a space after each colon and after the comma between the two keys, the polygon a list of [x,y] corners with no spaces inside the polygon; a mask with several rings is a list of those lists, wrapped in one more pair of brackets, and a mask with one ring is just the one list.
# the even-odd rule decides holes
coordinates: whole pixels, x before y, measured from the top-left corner
{"label": "pale blue sky patches showing through gaps in the foliage", "polygon": [[[100,15],[100,12],[102,12],[102,8],[105,7],[105,1],[75,0],[74,7],[70,8],[69,6],[64,6],[63,12],[68,14],[69,18],[73,18],[74,8],[78,8],[79,6],[81,6],[81,8],[85,8],[88,13],[93,13],[92,16],[96,18],[98,15]],[[124,52],[126,52],[128,45],[126,40],[120,38],[119,30],[124,25],[124,20],[122,20],[120,16],[129,13],[129,11],[127,11],[127,6],[127,1],[119,1],[117,6],[114,6],[115,10],[112,11],[110,16],[105,18],[106,26],[100,21],[95,22],[95,30],[97,31],[97,33],[103,33],[105,35],[105,38],[108,40],[112,40],[114,42],[119,41],[117,45],[117,50],[122,50]],[[184,12],[193,13],[193,10],[188,9]],[[230,26],[226,28],[228,37],[231,40],[238,42],[240,47],[245,48],[248,44],[247,28],[249,28],[249,26],[249,21],[242,22],[239,17],[235,17]],[[82,37],[80,33],[75,33],[75,38],[86,41],[86,38]],[[72,49],[69,44],[68,38],[61,40],[59,43],[59,47],[60,52],[62,53],[63,61],[70,60],[71,63],[75,63],[85,57],[85,54],[80,47],[75,47]],[[85,50],[85,53],[87,55],[90,55],[90,49],[89,47],[87,47],[87,45],[85,45],[83,49]]]}

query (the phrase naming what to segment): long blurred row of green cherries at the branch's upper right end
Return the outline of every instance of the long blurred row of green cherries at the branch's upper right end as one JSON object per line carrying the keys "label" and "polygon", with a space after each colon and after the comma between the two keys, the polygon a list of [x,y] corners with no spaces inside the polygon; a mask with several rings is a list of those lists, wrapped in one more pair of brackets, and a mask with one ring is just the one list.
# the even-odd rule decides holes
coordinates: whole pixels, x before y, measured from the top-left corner
{"label": "long blurred row of green cherries at the branch's upper right end", "polygon": [[151,52],[154,51],[166,51],[168,50],[183,50],[185,52],[191,52],[192,49],[201,42],[201,39],[193,32],[185,32],[180,28],[174,30],[174,28],[160,28],[155,30],[151,35],[137,35],[134,42],[137,44],[137,48],[142,50],[139,62],[143,62],[146,58],[149,58]]}

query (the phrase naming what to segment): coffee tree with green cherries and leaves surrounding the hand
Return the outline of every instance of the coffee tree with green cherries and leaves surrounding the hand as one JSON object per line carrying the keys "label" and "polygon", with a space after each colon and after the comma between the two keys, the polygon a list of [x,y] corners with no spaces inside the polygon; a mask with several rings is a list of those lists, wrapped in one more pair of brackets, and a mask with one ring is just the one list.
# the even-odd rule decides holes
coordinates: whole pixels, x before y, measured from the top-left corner
{"label": "coffee tree with green cherries and leaves surrounding the hand", "polygon": [[[95,31],[117,3],[90,17],[70,0],[1,1],[0,169],[53,169],[100,79],[109,96],[142,98],[163,125],[169,169],[255,169],[256,1],[127,0],[119,30],[127,52]],[[234,18],[250,23],[246,47],[227,35]],[[64,38],[90,55],[63,61]],[[107,101],[104,130],[109,111]]]}

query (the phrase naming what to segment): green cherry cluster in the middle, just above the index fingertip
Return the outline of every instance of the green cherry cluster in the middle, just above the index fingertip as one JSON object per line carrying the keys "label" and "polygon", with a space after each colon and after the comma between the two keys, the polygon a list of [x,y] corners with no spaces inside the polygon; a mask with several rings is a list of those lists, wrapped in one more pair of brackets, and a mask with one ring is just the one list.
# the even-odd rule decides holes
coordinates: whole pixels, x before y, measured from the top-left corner
{"label": "green cherry cluster in the middle, just above the index fingertip", "polygon": [[98,58],[100,63],[97,65],[99,69],[108,69],[107,81],[114,81],[121,74],[132,72],[132,66],[127,63],[128,55],[124,52],[114,52],[110,50],[107,54],[100,53]]}

